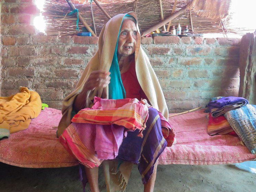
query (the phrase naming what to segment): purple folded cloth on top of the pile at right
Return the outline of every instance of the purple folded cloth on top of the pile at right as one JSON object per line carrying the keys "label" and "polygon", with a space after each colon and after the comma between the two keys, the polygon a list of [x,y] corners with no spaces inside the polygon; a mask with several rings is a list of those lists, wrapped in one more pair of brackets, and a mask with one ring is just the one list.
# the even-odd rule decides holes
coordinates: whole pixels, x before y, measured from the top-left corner
{"label": "purple folded cloth on top of the pile at right", "polygon": [[220,110],[223,109],[223,107],[225,108],[225,106],[231,106],[231,105],[237,105],[238,104],[239,107],[242,107],[242,106],[247,105],[248,103],[249,102],[247,101],[247,99],[245,99],[243,97],[232,97],[232,96],[230,96],[230,97],[222,97],[218,100],[210,101],[207,104],[207,107],[209,109],[209,112],[211,112],[211,110],[213,108],[218,108],[216,111],[220,111]]}

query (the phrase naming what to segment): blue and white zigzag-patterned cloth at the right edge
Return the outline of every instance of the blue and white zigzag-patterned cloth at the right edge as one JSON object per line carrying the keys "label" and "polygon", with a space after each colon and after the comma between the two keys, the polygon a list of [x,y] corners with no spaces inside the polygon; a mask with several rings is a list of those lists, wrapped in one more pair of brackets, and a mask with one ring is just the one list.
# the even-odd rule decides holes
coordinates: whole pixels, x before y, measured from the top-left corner
{"label": "blue and white zigzag-patterned cloth at the right edge", "polygon": [[249,151],[256,154],[256,105],[248,104],[224,116]]}

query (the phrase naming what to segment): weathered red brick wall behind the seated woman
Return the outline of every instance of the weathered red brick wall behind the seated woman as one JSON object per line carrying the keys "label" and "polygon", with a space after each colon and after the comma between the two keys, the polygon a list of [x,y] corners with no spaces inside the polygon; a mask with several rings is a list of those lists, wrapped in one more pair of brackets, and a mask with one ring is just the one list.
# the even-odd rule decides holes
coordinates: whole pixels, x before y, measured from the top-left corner
{"label": "weathered red brick wall behind the seated woman", "polygon": [[[30,6],[33,8],[28,0],[2,4],[1,95],[27,86],[40,94],[43,103],[60,109],[62,99],[74,89],[96,52],[97,37],[38,36],[29,22],[36,12],[27,12]],[[238,95],[240,41],[142,38],[142,48],[159,77],[170,112],[204,106],[214,96]]]}

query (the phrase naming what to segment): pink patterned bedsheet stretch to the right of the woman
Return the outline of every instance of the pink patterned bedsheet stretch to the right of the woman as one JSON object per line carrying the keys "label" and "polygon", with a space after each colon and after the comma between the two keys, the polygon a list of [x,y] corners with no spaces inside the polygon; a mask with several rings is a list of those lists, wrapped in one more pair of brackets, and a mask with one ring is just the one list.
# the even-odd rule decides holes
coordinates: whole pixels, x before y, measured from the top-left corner
{"label": "pink patterned bedsheet stretch to the right of the woman", "polygon": [[169,118],[177,143],[166,147],[159,164],[216,165],[254,160],[238,136],[207,134],[208,119],[203,110]]}

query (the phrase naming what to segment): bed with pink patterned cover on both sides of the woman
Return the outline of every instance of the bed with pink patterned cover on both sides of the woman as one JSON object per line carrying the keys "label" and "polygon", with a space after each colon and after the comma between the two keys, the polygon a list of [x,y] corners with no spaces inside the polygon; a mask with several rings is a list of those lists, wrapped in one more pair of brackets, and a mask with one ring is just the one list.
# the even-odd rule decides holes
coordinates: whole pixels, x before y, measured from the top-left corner
{"label": "bed with pink patterned cover on both sides of the woman", "polygon": [[[256,159],[256,154],[251,154],[238,136],[209,136],[206,115],[199,110],[169,118],[177,143],[165,148],[158,164],[215,165]],[[58,125],[60,118],[60,110],[42,110],[26,130],[0,141],[0,161],[28,168],[78,165],[56,137],[53,127]]]}

